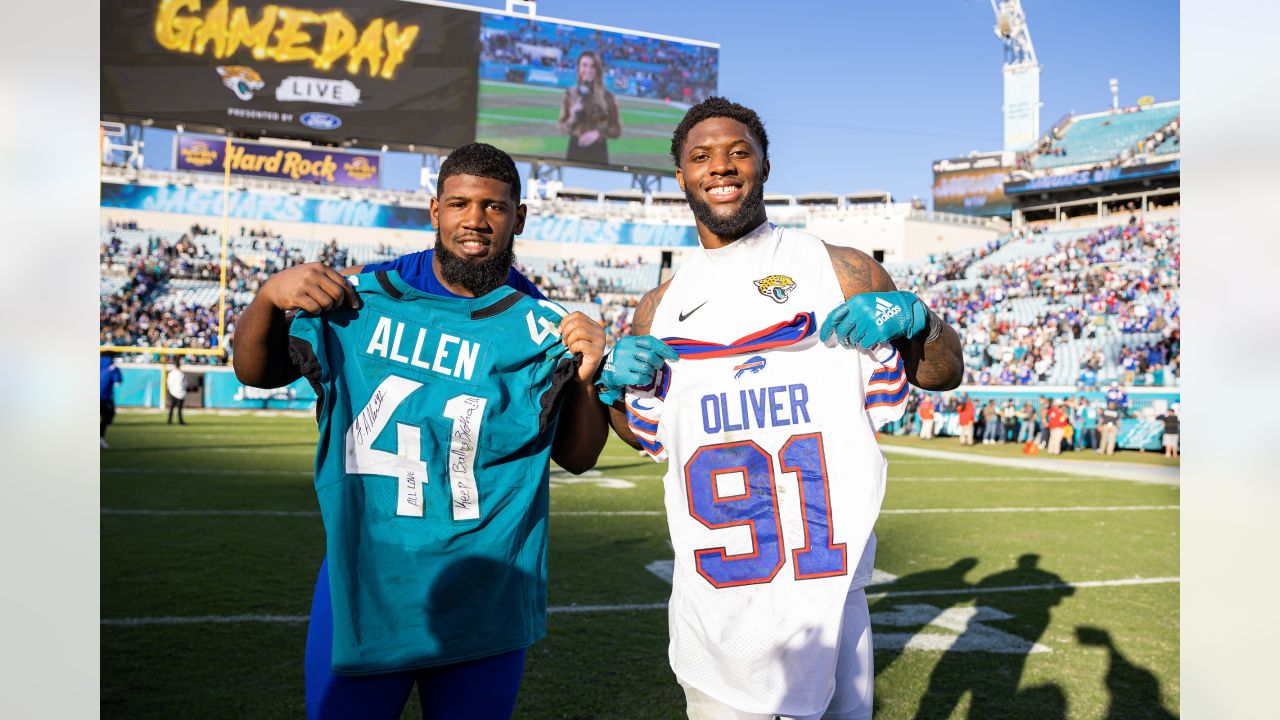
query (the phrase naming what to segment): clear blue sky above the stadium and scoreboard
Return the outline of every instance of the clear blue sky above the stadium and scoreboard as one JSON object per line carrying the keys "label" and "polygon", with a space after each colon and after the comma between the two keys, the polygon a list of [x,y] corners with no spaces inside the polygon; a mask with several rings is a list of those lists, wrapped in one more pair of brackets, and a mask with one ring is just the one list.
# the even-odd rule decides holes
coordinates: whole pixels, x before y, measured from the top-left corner
{"label": "clear blue sky above the stadium and scoreboard", "polygon": [[[1023,9],[1042,65],[1042,129],[1068,111],[1107,109],[1110,78],[1121,104],[1179,97],[1176,1],[1024,0]],[[988,0],[541,0],[538,12],[718,42],[721,95],[754,108],[768,129],[771,192],[876,188],[932,204],[934,160],[1001,149],[1002,50]],[[421,156],[389,154],[384,182],[417,187],[420,169]],[[527,164],[520,170],[527,177]],[[630,176],[571,168],[564,182],[614,190]],[[662,190],[676,190],[675,179]]]}

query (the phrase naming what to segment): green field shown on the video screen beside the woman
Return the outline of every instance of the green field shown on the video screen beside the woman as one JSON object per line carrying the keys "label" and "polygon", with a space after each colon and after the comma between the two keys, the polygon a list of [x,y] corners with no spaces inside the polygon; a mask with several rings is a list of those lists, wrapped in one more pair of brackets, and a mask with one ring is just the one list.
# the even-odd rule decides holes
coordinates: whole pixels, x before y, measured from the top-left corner
{"label": "green field shown on the video screen beside the woman", "polygon": [[[563,96],[559,88],[481,81],[476,142],[512,155],[563,158],[568,136],[557,127]],[[671,172],[671,131],[685,117],[685,108],[626,95],[614,95],[614,101],[622,137],[608,141],[609,164]]]}

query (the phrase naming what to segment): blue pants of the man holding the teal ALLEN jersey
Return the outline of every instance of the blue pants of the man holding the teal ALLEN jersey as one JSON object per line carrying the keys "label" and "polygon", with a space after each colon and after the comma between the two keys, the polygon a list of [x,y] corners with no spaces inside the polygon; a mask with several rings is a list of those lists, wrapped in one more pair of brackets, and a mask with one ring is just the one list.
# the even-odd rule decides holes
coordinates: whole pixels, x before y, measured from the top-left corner
{"label": "blue pants of the man holding the teal ALLEN jersey", "polygon": [[307,719],[398,720],[417,683],[424,719],[506,720],[516,708],[525,650],[380,675],[333,671],[333,602],[329,559],[320,564],[307,626]]}

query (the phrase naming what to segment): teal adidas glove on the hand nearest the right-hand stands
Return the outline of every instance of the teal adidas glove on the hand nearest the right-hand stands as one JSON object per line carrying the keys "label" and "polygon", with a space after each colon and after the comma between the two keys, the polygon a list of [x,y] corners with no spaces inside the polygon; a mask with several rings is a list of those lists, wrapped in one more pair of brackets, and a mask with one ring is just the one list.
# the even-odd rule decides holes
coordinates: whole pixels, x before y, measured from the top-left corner
{"label": "teal adidas glove on the hand nearest the right-hand stands", "polygon": [[870,348],[915,337],[929,324],[928,307],[914,292],[864,292],[841,302],[822,322],[818,338],[836,336],[845,347]]}

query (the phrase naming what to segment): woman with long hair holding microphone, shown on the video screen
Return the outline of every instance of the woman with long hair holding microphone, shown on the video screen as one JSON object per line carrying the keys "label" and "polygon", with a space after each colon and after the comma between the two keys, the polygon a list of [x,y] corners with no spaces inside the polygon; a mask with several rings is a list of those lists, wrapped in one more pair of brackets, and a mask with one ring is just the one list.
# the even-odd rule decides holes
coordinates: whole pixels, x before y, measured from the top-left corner
{"label": "woman with long hair holding microphone, shown on the video screen", "polygon": [[604,87],[604,61],[594,50],[577,56],[577,83],[564,90],[559,129],[568,135],[566,160],[607,165],[608,138],[622,136],[622,118],[613,94]]}

